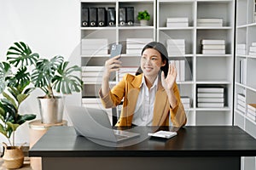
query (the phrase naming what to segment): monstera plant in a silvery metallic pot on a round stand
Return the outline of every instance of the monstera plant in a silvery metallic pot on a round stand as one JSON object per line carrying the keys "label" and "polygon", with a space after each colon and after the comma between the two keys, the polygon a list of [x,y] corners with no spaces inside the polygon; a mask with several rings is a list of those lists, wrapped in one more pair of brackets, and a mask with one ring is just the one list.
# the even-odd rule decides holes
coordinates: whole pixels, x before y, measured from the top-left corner
{"label": "monstera plant in a silvery metallic pot on a round stand", "polygon": [[45,94],[38,97],[43,123],[62,122],[64,101],[61,96],[54,94],[54,90],[56,93],[72,94],[83,88],[82,80],[73,75],[74,72],[82,71],[81,68],[78,65],[68,67],[68,63],[60,55],[51,59],[38,59],[32,71],[32,83]]}

